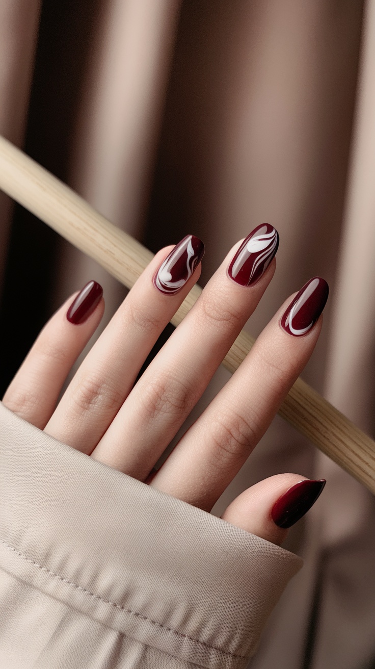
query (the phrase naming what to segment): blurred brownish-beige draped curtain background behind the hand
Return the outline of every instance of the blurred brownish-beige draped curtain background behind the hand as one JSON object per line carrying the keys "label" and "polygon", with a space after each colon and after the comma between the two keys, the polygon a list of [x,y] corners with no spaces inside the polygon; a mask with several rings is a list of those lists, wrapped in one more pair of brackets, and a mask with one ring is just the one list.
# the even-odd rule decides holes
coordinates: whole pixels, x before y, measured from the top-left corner
{"label": "blurred brownish-beige draped curtain background behind the hand", "polygon": [[[0,0],[0,63],[0,133],[153,252],[201,237],[201,285],[255,225],[275,225],[277,273],[247,329],[326,278],[303,378],[375,437],[374,0]],[[106,300],[92,346],[125,288],[0,193],[1,397],[90,279]],[[249,667],[375,668],[367,490],[276,417],[213,512],[287,471],[327,485],[290,532],[305,567]]]}

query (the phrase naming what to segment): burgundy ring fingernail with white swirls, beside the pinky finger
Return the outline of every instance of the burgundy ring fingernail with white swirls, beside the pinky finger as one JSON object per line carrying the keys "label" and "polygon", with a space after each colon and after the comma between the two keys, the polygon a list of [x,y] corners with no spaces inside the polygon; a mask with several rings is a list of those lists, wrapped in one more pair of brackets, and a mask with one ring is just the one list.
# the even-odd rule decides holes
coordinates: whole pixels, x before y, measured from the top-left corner
{"label": "burgundy ring fingernail with white swirls, beside the pinky finger", "polygon": [[160,292],[174,295],[191,278],[205,255],[205,244],[194,235],[186,235],[160,265],[154,284]]}

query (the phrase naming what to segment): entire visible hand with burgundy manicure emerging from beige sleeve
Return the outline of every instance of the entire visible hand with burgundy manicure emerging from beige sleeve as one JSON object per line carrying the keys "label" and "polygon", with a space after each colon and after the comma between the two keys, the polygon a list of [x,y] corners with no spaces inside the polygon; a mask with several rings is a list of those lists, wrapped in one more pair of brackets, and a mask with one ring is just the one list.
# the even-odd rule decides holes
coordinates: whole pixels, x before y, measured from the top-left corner
{"label": "entire visible hand with burgundy manicure emerging from beige sleeve", "polygon": [[[271,225],[259,225],[239,242],[134,385],[201,273],[204,247],[197,237],[160,250],[57,403],[104,313],[102,288],[90,282],[41,330],[4,405],[92,458],[210,511],[314,350],[328,296],[323,279],[310,280],[297,299],[281,306],[229,382],[162,467],[152,470],[255,310],[275,272],[277,246]],[[280,544],[324,483],[297,474],[271,476],[240,494],[221,517]]]}

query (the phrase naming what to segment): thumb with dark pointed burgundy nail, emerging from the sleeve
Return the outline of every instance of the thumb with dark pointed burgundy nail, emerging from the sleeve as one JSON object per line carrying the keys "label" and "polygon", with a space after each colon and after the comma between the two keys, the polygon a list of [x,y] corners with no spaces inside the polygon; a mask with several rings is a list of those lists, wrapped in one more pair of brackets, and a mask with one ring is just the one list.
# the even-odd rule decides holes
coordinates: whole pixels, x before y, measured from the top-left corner
{"label": "thumb with dark pointed burgundy nail, emerging from the sleeve", "polygon": [[316,502],[326,480],[276,474],[247,488],[221,516],[237,527],[278,546],[291,527]]}

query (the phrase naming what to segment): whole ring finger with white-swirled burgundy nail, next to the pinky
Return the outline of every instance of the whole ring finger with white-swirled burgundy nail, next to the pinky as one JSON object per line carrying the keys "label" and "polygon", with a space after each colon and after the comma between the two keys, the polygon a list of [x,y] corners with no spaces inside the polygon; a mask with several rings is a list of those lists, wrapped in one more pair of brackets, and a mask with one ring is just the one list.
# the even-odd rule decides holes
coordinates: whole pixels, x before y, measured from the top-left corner
{"label": "whole ring finger with white-swirled burgundy nail, next to the pinky", "polygon": [[94,450],[198,280],[204,252],[201,240],[186,235],[156,254],[80,365],[45,432],[87,454]]}

